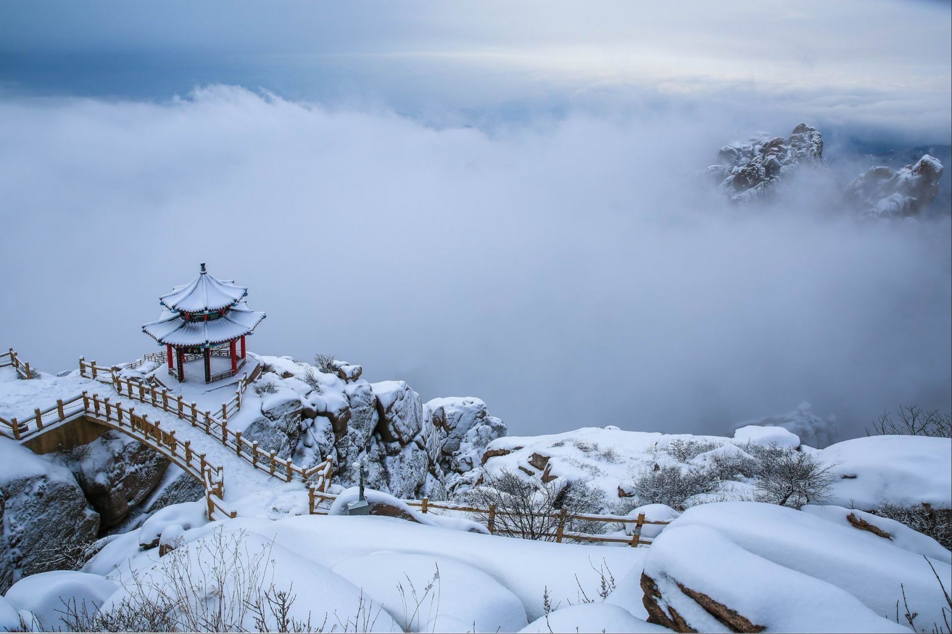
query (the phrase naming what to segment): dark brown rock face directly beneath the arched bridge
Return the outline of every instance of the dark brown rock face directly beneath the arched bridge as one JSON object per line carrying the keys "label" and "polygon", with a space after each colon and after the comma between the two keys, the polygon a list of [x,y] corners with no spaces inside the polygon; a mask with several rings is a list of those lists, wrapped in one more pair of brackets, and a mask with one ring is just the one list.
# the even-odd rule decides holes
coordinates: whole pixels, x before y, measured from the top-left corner
{"label": "dark brown rock face directly beneath the arched bridge", "polygon": [[169,459],[129,436],[109,431],[82,450],[71,468],[102,528],[118,525],[162,480]]}

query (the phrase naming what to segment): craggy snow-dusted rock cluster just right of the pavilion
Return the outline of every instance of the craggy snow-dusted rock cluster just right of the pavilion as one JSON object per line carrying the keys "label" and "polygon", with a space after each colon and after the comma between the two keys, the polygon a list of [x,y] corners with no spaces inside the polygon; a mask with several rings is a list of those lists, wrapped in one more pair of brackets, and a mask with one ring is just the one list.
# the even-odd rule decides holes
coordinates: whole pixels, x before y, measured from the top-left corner
{"label": "craggy snow-dusted rock cluster just right of the pavilion", "polygon": [[445,499],[447,487],[478,466],[486,444],[506,434],[506,424],[479,399],[425,404],[403,381],[368,383],[360,366],[338,361],[331,373],[289,357],[261,360],[268,371],[256,385],[268,391],[245,438],[304,466],[332,456],[341,485],[357,484],[366,456],[368,487],[398,498]]}

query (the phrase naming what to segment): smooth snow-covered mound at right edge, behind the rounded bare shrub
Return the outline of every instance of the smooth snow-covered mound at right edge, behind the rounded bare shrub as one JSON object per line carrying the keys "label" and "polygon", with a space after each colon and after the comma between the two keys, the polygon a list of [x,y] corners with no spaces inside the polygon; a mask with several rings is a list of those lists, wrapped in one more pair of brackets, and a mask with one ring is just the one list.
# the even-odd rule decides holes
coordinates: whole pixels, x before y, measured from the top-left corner
{"label": "smooth snow-covered mound at right edge, behind the rounded bare shrub", "polygon": [[829,503],[871,509],[895,505],[952,506],[952,440],[869,436],[823,449],[836,480]]}

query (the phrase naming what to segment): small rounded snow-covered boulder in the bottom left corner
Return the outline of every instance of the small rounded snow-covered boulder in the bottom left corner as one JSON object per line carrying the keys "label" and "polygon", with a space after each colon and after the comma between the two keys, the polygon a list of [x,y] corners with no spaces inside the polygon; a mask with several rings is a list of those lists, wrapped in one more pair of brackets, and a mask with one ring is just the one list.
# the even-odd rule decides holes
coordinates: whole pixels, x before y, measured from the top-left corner
{"label": "small rounded snow-covered boulder in the bottom left corner", "polygon": [[[68,608],[90,614],[119,589],[119,584],[99,575],[75,570],[52,570],[24,577],[10,586],[5,595],[18,611],[32,616],[33,631],[66,629],[63,617]],[[26,620],[25,620],[26,621]]]}

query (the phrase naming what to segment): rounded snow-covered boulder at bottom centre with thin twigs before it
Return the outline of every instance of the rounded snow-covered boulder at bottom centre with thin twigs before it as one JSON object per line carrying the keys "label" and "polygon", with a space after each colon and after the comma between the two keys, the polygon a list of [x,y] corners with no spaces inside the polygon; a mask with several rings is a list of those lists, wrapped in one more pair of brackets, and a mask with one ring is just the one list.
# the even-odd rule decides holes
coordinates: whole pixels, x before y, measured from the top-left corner
{"label": "rounded snow-covered boulder at bottom centre with thin twigs before it", "polygon": [[454,559],[380,552],[330,569],[367,591],[403,631],[515,632],[526,626],[526,609],[512,591]]}

